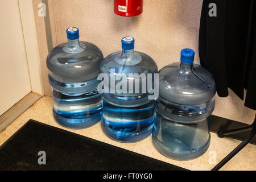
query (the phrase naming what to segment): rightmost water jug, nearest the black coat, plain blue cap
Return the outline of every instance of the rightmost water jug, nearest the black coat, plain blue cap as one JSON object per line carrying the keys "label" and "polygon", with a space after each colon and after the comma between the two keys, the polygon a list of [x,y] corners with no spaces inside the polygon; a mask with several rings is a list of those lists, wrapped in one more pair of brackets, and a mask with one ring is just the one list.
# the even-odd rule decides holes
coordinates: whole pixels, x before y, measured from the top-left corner
{"label": "rightmost water jug, nearest the black coat, plain blue cap", "polygon": [[181,51],[181,63],[159,72],[159,98],[152,134],[156,148],[176,160],[197,158],[210,143],[208,117],[214,110],[216,84],[207,69],[193,64],[195,52]]}

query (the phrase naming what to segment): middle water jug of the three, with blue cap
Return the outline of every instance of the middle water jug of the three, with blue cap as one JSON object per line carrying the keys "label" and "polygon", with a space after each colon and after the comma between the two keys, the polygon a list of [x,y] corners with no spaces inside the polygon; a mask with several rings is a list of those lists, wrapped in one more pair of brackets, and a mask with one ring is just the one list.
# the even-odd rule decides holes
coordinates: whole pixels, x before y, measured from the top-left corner
{"label": "middle water jug of the three, with blue cap", "polygon": [[[122,52],[106,57],[100,72],[108,76],[104,79],[108,81],[102,94],[101,120],[106,135],[121,142],[137,142],[148,137],[155,119],[154,100],[148,97],[154,88],[154,73],[158,72],[155,61],[134,51],[134,38],[125,37]],[[147,82],[150,84],[145,85]]]}

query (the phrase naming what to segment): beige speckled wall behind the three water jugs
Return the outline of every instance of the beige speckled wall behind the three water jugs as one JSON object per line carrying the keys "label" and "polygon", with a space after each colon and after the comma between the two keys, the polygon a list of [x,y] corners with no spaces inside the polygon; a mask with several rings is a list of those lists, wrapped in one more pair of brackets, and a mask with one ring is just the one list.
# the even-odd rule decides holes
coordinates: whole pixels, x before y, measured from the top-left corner
{"label": "beige speckled wall behind the three water jugs", "polygon": [[[35,14],[40,0],[33,0]],[[113,0],[48,0],[53,46],[66,41],[68,27],[80,28],[81,40],[101,48],[104,56],[121,49],[123,36],[134,36],[135,49],[150,55],[158,64],[179,61],[180,50],[193,48],[199,63],[198,38],[203,0],[144,0],[142,15],[132,18],[113,13]],[[159,3],[161,2],[161,3]],[[35,15],[36,16],[36,15]],[[44,90],[51,95],[47,80],[47,44],[43,18],[36,16],[42,61]],[[216,99],[215,115],[251,123],[255,112],[230,92],[228,98]]]}

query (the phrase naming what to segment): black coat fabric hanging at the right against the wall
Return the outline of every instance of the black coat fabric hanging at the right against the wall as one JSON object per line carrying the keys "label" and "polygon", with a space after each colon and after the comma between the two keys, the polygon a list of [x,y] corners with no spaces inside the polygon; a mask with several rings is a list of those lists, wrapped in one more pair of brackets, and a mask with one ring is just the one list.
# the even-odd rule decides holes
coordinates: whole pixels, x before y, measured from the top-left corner
{"label": "black coat fabric hanging at the right against the wall", "polygon": [[[215,3],[217,16],[209,11]],[[228,97],[228,88],[245,106],[256,110],[256,1],[204,0],[200,22],[199,55],[217,84],[218,96]]]}

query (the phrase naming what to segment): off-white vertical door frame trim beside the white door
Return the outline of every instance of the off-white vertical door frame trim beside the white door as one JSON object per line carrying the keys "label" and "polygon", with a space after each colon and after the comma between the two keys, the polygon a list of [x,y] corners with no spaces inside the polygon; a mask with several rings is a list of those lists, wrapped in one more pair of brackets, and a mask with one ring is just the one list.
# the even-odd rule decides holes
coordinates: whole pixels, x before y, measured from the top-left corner
{"label": "off-white vertical door frame trim beside the white door", "polygon": [[44,96],[32,0],[18,0],[32,92]]}

